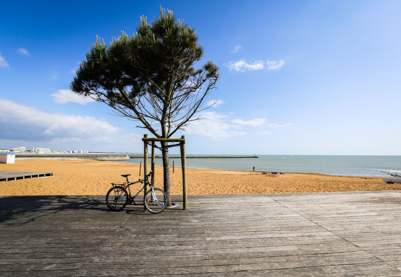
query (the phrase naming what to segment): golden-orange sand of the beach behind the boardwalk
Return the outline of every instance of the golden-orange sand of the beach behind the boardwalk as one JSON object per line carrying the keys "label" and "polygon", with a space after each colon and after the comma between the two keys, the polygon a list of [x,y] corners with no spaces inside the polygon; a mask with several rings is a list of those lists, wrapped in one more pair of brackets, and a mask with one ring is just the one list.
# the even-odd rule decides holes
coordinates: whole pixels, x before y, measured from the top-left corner
{"label": "golden-orange sand of the beach behind the boardwalk", "polygon": [[[150,170],[150,167],[149,167]],[[137,181],[139,165],[54,159],[22,159],[0,164],[0,171],[53,172],[54,177],[0,182],[0,195],[105,195],[110,183],[123,183],[121,174]],[[155,169],[156,187],[163,188],[162,167]],[[171,170],[171,192],[182,194],[181,168]],[[314,173],[261,174],[252,171],[187,169],[189,195],[303,193],[327,191],[399,190],[401,184],[386,184],[382,177],[334,176]],[[132,186],[138,190],[139,185]]]}

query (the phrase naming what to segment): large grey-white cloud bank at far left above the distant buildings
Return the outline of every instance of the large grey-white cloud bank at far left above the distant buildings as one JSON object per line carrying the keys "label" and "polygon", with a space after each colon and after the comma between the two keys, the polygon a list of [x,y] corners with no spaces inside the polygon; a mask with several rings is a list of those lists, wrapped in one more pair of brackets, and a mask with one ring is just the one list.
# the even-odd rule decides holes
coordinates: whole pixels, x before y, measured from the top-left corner
{"label": "large grey-white cloud bank at far left above the distant buildings", "polygon": [[111,135],[119,130],[92,116],[48,113],[32,106],[0,99],[1,139],[71,141]]}

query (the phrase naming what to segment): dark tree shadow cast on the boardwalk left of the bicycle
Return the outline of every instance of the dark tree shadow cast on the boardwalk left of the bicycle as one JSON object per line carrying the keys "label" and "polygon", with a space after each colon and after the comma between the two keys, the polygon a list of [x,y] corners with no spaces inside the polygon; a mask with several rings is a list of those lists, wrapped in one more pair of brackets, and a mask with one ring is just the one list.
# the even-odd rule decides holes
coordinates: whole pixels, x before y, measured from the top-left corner
{"label": "dark tree shadow cast on the boardwalk left of the bicycle", "polygon": [[[78,210],[92,210],[104,213],[144,214],[143,205],[127,205],[124,211],[111,211],[105,204],[103,197],[99,196],[4,196],[0,197],[0,223],[8,225],[24,225],[37,219],[55,215],[60,212]],[[96,217],[96,215],[93,215]],[[26,220],[23,220],[26,218]],[[9,222],[22,219],[18,222]]]}

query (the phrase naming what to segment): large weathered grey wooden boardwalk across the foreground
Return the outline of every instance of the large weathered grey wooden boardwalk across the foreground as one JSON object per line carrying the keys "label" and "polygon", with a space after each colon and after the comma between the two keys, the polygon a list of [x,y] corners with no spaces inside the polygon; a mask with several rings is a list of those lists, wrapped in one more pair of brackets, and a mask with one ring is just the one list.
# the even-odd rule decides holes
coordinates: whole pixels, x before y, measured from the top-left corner
{"label": "large weathered grey wooden boardwalk across the foreground", "polygon": [[401,276],[401,191],[190,196],[160,215],[93,196],[0,207],[1,276]]}

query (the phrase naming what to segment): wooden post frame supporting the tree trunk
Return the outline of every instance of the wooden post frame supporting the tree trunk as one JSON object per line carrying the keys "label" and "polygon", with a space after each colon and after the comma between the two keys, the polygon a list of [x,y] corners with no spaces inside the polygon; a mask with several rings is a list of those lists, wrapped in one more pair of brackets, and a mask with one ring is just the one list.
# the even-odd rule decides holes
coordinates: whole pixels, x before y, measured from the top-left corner
{"label": "wooden post frame supporting the tree trunk", "polygon": [[[148,138],[147,134],[144,134],[144,138],[142,139],[144,142],[144,176],[148,173],[148,145],[152,147],[152,163],[151,163],[151,170],[152,170],[152,185],[154,185],[154,149],[159,148],[155,145],[156,142],[169,142],[169,143],[179,143],[177,145],[170,145],[168,147],[180,147],[181,153],[181,169],[182,169],[182,209],[186,211],[188,208],[186,206],[187,197],[186,197],[186,158],[185,158],[185,136],[181,136],[181,139],[158,139],[158,138]],[[146,193],[146,188],[145,192]]]}

